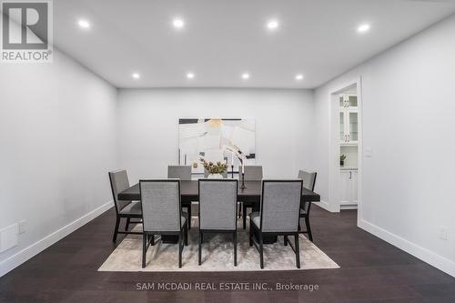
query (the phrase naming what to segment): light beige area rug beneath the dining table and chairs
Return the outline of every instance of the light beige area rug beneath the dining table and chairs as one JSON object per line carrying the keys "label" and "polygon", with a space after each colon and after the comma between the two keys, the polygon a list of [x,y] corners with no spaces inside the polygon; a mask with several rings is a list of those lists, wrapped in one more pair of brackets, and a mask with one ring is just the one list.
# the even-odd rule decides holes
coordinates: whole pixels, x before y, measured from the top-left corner
{"label": "light beige area rug beneath the dining table and chairs", "polygon": [[[264,269],[259,267],[258,250],[248,244],[248,228],[241,228],[238,221],[238,266],[234,266],[234,245],[230,234],[204,234],[202,265],[197,265],[197,217],[192,219],[188,231],[188,246],[183,250],[182,268],[178,268],[178,245],[163,244],[155,237],[155,246],[147,250],[147,267],[142,268],[142,236],[128,235],[106,259],[98,271],[253,271],[253,270],[306,270],[339,268],[331,258],[300,235],[300,269],[296,255],[283,245],[283,237],[275,244],[264,245]],[[136,225],[136,231],[142,226]],[[289,237],[293,242],[294,237]]]}

